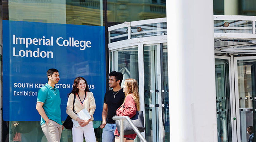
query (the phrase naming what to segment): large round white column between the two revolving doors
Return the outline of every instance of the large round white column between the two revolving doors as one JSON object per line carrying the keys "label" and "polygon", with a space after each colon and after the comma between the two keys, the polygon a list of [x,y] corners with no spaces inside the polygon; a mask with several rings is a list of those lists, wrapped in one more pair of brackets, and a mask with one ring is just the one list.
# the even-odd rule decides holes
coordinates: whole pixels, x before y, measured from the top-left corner
{"label": "large round white column between the two revolving doors", "polygon": [[170,141],[217,142],[213,1],[166,1]]}

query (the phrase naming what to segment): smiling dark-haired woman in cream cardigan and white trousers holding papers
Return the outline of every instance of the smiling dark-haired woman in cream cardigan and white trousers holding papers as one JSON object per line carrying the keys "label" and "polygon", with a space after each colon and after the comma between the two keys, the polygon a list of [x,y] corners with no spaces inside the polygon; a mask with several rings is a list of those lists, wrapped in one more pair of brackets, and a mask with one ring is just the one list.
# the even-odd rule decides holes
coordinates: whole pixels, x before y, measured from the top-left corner
{"label": "smiling dark-haired woman in cream cardigan and white trousers holding papers", "polygon": [[[74,95],[75,104],[73,112],[73,99]],[[86,108],[91,115],[91,119],[82,120],[77,117],[76,113]],[[85,136],[86,142],[96,142],[94,128],[93,128],[93,114],[96,108],[95,99],[93,93],[89,91],[87,81],[83,77],[77,77],[74,80],[73,90],[69,94],[67,101],[67,114],[74,120],[79,122],[78,127],[73,124],[72,137],[73,142],[83,142],[83,135]]]}

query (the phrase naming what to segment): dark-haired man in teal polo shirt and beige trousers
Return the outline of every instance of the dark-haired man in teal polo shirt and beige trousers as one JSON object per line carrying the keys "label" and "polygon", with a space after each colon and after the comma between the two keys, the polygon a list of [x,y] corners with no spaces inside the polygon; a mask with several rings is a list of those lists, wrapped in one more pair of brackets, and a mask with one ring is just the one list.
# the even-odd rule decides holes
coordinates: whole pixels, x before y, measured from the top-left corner
{"label": "dark-haired man in teal polo shirt and beige trousers", "polygon": [[55,88],[60,75],[57,69],[47,71],[48,83],[37,94],[36,110],[41,115],[41,128],[48,142],[60,142],[63,129],[61,123],[60,92]]}

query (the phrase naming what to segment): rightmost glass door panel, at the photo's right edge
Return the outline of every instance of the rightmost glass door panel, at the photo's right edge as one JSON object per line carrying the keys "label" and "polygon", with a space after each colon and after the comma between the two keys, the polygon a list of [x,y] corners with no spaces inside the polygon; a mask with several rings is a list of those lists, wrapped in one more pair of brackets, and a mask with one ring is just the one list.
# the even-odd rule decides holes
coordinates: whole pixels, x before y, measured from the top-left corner
{"label": "rightmost glass door panel, at the photo's right edge", "polygon": [[[255,85],[256,60],[237,60],[237,86],[239,102],[238,110],[240,120],[241,142],[248,142],[253,133],[247,134],[247,128],[253,126],[255,131],[256,121],[256,85]],[[239,128],[238,128],[239,133]],[[250,139],[253,140],[253,139]],[[255,141],[255,138],[254,140]]]}

